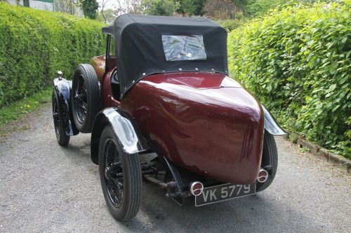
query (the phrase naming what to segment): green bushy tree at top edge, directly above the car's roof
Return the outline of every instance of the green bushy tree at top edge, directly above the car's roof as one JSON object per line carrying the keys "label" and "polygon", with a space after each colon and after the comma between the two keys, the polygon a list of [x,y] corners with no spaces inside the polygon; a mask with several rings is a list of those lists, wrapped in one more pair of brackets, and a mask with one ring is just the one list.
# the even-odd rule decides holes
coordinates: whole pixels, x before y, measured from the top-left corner
{"label": "green bushy tree at top edge, directly above the car's roof", "polygon": [[178,8],[178,3],[171,0],[143,0],[142,13],[146,15],[173,15]]}

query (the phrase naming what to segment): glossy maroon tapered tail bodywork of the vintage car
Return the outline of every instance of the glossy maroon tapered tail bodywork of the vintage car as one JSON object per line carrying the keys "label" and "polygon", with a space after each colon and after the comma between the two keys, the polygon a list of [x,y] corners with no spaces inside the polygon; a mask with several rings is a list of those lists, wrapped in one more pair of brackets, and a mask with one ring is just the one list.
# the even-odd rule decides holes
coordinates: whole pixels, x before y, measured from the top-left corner
{"label": "glossy maroon tapered tail bodywork of the vintage car", "polygon": [[155,74],[136,83],[121,104],[110,85],[103,87],[105,107],[121,106],[175,164],[224,182],[256,181],[263,110],[234,80],[220,73]]}

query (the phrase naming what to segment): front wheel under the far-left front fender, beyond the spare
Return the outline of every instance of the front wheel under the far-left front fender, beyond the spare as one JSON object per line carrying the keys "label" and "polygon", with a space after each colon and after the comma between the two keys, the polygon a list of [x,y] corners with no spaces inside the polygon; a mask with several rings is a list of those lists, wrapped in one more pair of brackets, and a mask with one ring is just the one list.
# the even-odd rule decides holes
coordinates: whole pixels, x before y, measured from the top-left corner
{"label": "front wheel under the far-left front fender, beyond the spare", "polygon": [[58,144],[60,146],[67,146],[70,136],[67,135],[65,131],[64,116],[58,100],[58,94],[55,90],[53,90],[52,106],[53,126],[55,128],[56,139],[58,140]]}

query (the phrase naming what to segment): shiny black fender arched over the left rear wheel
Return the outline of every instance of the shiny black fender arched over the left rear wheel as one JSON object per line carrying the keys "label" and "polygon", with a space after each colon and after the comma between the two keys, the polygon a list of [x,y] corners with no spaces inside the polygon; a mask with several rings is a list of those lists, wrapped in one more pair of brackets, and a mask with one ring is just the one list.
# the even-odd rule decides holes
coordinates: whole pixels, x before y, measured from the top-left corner
{"label": "shiny black fender arched over the left rear wheel", "polygon": [[114,135],[127,155],[149,150],[135,122],[126,112],[121,108],[105,108],[95,116],[91,132],[91,160],[94,164],[99,163],[100,136],[107,124],[112,127]]}

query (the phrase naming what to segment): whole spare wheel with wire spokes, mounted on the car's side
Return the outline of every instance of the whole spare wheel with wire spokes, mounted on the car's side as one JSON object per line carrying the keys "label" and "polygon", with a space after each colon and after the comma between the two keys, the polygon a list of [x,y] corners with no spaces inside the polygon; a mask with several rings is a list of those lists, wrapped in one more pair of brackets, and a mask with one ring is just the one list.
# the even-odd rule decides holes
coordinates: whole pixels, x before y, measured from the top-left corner
{"label": "whole spare wheel with wire spokes, mounted on the car's side", "polygon": [[91,132],[100,106],[100,87],[93,66],[80,64],[72,81],[73,120],[79,132]]}

